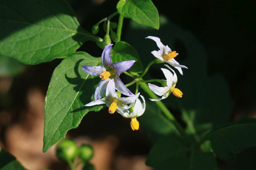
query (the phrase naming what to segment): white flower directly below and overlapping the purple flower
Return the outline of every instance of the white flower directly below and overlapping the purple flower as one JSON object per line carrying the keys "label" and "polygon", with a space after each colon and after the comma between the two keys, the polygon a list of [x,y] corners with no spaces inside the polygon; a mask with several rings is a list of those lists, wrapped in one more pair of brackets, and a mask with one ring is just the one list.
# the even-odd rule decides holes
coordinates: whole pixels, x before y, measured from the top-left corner
{"label": "white flower directly below and overlapping the purple flower", "polygon": [[128,109],[131,107],[131,106],[128,106],[128,104],[134,102],[139,97],[139,95],[140,93],[130,97],[118,97],[117,93],[115,92],[114,79],[111,79],[108,82],[108,85],[106,88],[106,97],[96,101],[92,101],[86,104],[85,106],[106,104],[106,106],[109,107],[110,114],[113,114],[115,111],[117,111],[120,114],[125,114],[125,112],[129,112]]}

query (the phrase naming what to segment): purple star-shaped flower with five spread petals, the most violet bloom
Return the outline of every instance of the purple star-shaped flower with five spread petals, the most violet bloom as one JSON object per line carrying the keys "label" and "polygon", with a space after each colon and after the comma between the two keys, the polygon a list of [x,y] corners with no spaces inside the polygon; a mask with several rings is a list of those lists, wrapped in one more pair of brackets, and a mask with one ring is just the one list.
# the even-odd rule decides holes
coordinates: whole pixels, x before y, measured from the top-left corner
{"label": "purple star-shaped flower with five spread petals, the most violet bloom", "polygon": [[133,96],[134,94],[124,85],[120,80],[119,76],[124,71],[131,68],[134,60],[121,61],[118,63],[112,63],[110,56],[111,46],[113,44],[107,45],[102,52],[101,61],[102,66],[90,66],[82,65],[83,70],[90,75],[100,76],[101,81],[99,86],[96,88],[94,97],[95,100],[99,100],[105,93],[107,85],[111,79],[115,81],[115,88],[122,94],[126,96]]}

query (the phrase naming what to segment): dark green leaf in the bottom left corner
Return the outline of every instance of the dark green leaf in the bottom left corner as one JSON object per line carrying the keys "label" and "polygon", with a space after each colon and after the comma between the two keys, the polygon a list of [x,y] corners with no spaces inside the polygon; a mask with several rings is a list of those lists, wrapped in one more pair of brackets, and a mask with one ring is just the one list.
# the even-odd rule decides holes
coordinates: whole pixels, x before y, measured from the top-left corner
{"label": "dark green leaf in the bottom left corner", "polygon": [[10,153],[0,148],[0,170],[27,170]]}

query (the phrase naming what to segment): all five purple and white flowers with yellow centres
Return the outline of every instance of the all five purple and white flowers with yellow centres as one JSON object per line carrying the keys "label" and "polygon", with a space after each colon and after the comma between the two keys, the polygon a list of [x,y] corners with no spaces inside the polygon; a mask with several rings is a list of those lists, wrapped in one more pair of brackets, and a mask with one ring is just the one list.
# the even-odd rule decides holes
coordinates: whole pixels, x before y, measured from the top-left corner
{"label": "all five purple and white flowers with yellow centres", "polygon": [[[161,43],[160,39],[157,37],[146,37],[154,40],[159,47],[160,50],[152,51],[151,53],[160,60],[160,63],[166,62],[174,68],[178,69],[180,74],[183,74],[182,68],[187,68],[184,65],[180,65],[174,57],[178,55],[176,51],[172,51],[168,46],[164,46]],[[113,114],[114,112],[118,112],[124,118],[131,118],[131,127],[132,130],[139,129],[139,122],[137,121],[137,117],[141,116],[145,112],[145,98],[140,95],[140,93],[133,94],[120,80],[119,76],[134,64],[134,60],[121,61],[118,63],[112,63],[112,59],[110,56],[111,46],[113,44],[107,45],[102,52],[101,61],[102,66],[90,66],[90,65],[82,65],[82,69],[90,74],[99,76],[101,78],[99,86],[96,88],[94,97],[95,101],[92,101],[85,106],[94,106],[100,104],[106,104],[109,107],[109,113]],[[182,97],[183,93],[175,88],[177,83],[177,75],[170,66],[165,65],[168,69],[161,68],[165,77],[166,84],[165,87],[158,87],[154,84],[148,83],[149,88],[159,96],[162,96],[158,99],[151,99],[151,101],[160,101],[165,99],[173,93],[177,97]],[[172,70],[172,72],[170,72]],[[145,71],[146,73],[146,71]],[[144,74],[145,74],[144,73]],[[136,79],[136,81],[142,81],[140,79]],[[127,85],[128,86],[128,85]],[[118,93],[116,92],[118,91]],[[104,93],[106,92],[106,97],[102,98]],[[119,94],[119,95],[118,95]],[[121,94],[127,97],[121,97]],[[140,100],[138,97],[142,100]]]}

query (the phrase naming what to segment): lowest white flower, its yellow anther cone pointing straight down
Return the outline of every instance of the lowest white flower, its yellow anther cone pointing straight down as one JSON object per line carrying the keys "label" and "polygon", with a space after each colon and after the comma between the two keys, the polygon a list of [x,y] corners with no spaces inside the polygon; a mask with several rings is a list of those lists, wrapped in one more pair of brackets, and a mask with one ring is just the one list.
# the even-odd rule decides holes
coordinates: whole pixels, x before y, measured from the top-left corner
{"label": "lowest white flower, its yellow anther cone pointing straight down", "polygon": [[140,124],[136,118],[141,116],[145,112],[145,108],[146,108],[145,98],[143,96],[141,96],[141,98],[143,103],[141,103],[141,101],[137,98],[137,100],[135,101],[135,104],[134,103],[131,104],[131,105],[134,105],[134,107],[132,106],[131,109],[129,109],[129,112],[125,112],[124,114],[121,114],[125,118],[131,118],[132,130],[139,129]]}

